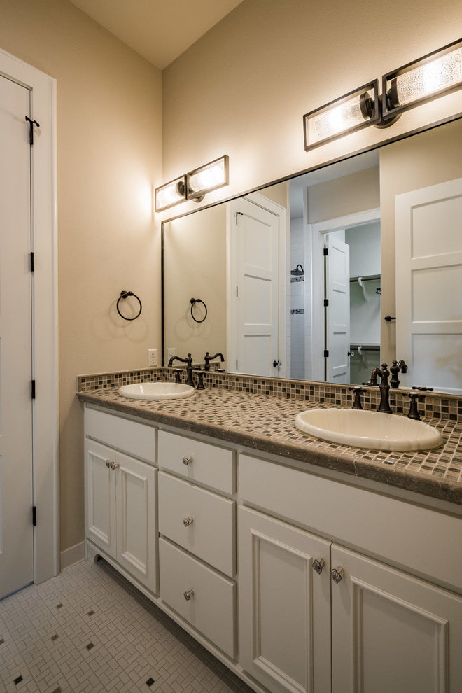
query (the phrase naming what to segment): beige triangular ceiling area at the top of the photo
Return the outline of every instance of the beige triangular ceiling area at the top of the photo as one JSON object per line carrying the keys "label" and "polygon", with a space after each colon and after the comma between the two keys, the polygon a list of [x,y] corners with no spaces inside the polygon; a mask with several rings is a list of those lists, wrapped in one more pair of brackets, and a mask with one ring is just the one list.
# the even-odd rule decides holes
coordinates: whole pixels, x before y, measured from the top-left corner
{"label": "beige triangular ceiling area at the top of the photo", "polygon": [[242,0],[71,1],[162,70]]}

